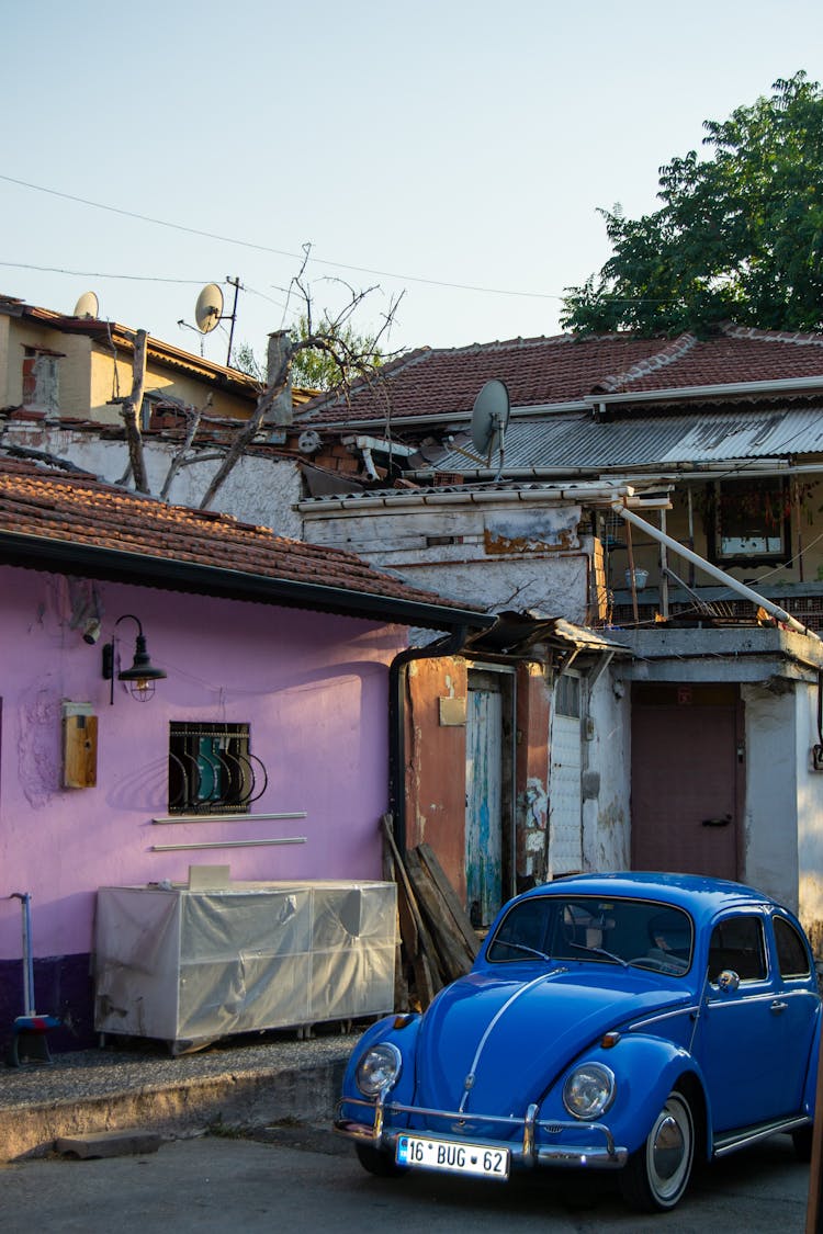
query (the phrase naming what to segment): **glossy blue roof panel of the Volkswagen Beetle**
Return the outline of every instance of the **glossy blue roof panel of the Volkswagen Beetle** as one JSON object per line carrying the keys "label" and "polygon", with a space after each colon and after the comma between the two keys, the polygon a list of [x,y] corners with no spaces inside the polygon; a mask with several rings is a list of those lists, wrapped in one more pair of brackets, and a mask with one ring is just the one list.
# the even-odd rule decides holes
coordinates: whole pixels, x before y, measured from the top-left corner
{"label": "glossy blue roof panel of the Volkswagen Beetle", "polygon": [[714,913],[719,908],[732,905],[777,903],[766,892],[748,887],[742,882],[709,879],[701,874],[660,874],[647,870],[564,875],[552,882],[533,887],[526,892],[526,896],[568,895],[570,892],[576,896],[631,896],[635,900],[661,900],[698,916]]}

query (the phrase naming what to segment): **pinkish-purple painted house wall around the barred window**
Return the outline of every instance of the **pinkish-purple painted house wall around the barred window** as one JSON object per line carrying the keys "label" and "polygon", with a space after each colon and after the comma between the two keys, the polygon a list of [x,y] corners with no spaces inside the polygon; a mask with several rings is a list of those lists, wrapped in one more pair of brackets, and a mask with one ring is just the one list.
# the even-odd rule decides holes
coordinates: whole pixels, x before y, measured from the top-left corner
{"label": "pinkish-purple painted house wall around the barred window", "polygon": [[[387,669],[406,645],[387,627],[269,605],[96,584],[102,637],[70,628],[91,585],[0,566],[0,959],[19,958],[20,903],[32,895],[37,956],[91,949],[99,886],[169,879],[189,864],[230,864],[233,879],[379,879],[378,819],[387,796]],[[101,676],[114,623],[134,613],[168,679],[147,703]],[[137,627],[122,622],[123,665]],[[63,789],[60,705],[97,716],[97,785]],[[254,813],[287,822],[153,826],[168,814],[170,721],[252,726],[269,774]],[[270,848],[153,853],[152,844],[306,835]]]}

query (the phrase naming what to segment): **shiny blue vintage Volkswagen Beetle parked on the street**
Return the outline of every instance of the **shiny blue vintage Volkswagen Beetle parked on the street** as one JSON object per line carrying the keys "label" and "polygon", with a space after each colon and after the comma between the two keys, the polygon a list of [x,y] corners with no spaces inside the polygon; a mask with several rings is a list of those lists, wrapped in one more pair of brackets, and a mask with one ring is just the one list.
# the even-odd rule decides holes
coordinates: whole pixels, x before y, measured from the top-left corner
{"label": "shiny blue vintage Volkswagen Beetle parked on the street", "polygon": [[790,1132],[808,1160],[821,998],[796,917],[696,875],[576,875],[497,914],[424,1014],[358,1043],[334,1127],[371,1174],[616,1170],[674,1208],[696,1159]]}

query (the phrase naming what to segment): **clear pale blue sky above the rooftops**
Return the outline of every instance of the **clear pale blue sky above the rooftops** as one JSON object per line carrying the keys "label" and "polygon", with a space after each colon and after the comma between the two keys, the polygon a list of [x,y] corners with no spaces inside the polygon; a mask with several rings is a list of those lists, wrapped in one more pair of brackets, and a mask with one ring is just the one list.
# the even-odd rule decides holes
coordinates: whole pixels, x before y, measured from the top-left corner
{"label": "clear pale blue sky above the rooftops", "polygon": [[387,353],[554,334],[610,255],[598,207],[656,209],[705,120],[823,80],[821,0],[0,0],[0,292],[94,291],[220,364],[232,326],[264,358],[296,278],[315,318],[365,292],[352,322]]}

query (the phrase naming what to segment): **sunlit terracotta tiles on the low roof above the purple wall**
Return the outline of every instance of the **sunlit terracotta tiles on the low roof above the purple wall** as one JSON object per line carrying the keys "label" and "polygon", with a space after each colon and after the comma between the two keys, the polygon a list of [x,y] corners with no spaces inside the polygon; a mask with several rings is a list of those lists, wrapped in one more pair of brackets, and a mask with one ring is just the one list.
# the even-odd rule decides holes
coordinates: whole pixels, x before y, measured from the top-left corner
{"label": "sunlit terracotta tiles on the low roof above the purple wall", "polygon": [[0,560],[9,536],[466,611],[465,605],[374,569],[354,553],[287,539],[270,527],[215,511],[165,505],[85,476],[0,459]]}

